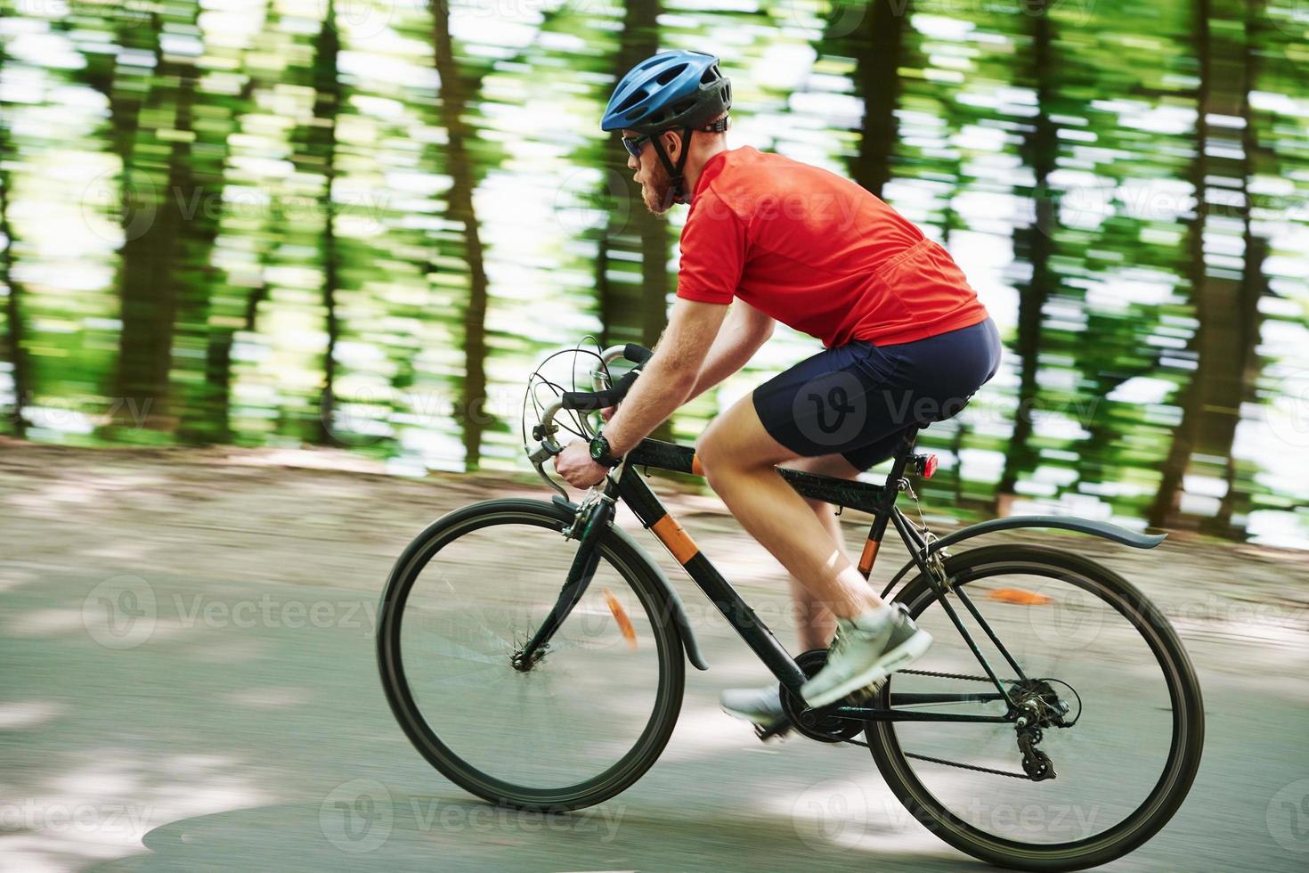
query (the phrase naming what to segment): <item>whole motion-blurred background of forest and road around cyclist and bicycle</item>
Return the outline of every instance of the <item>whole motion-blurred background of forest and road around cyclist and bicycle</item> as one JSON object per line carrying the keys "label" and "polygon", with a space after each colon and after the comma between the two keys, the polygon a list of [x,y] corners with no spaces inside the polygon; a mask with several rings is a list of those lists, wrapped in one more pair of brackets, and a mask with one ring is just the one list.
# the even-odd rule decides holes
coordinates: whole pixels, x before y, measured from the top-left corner
{"label": "whole motion-blurred background of forest and road around cyclist and bicycle", "polygon": [[[719,711],[768,677],[654,548],[712,671],[614,801],[501,815],[381,692],[406,543],[550,493],[533,369],[664,327],[685,209],[644,211],[598,120],[696,48],[733,145],[885,198],[1001,329],[1000,373],[920,437],[933,527],[1173,531],[1029,539],[1139,585],[1204,690],[1191,796],[1105,869],[1302,870],[1306,37],[1309,0],[0,0],[0,868],[966,868],[867,758]],[[779,329],[661,436],[817,348]],[[656,487],[793,645],[781,567],[703,482]]]}

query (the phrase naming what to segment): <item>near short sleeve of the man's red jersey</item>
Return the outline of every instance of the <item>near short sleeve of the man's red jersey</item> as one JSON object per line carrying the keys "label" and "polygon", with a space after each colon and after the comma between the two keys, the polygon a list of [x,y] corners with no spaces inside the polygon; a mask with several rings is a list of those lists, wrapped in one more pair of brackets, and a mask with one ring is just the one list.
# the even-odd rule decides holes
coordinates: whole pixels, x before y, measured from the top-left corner
{"label": "near short sleeve of the man's red jersey", "polygon": [[746,257],[745,224],[712,188],[695,198],[682,228],[677,296],[702,304],[730,304]]}

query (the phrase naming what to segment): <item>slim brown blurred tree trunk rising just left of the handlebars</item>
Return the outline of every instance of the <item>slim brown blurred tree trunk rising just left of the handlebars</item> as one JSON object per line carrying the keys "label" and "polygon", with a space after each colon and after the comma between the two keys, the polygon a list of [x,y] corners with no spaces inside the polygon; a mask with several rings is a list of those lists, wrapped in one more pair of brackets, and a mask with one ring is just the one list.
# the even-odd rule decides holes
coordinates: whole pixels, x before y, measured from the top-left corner
{"label": "slim brown blurred tree trunk rising just left of the handlebars", "polygon": [[450,38],[450,10],[444,0],[432,0],[432,33],[436,48],[436,72],[441,77],[441,122],[446,132],[446,166],[450,191],[446,216],[463,225],[463,259],[469,267],[469,300],[463,309],[463,390],[459,411],[463,423],[463,465],[475,470],[482,461],[482,433],[491,423],[486,398],[486,315],[487,274],[482,236],[473,209],[473,156],[467,147],[466,82],[459,77]]}

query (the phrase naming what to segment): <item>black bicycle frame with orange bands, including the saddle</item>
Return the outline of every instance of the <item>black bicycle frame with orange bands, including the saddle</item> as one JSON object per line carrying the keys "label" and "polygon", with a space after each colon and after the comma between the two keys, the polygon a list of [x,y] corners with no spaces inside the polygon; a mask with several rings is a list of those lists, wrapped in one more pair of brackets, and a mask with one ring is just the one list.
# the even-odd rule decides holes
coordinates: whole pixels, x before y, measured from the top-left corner
{"label": "black bicycle frame with orange bands, including the saddle", "polygon": [[[872,513],[873,525],[868,534],[868,544],[865,544],[864,555],[859,563],[859,569],[865,579],[872,572],[873,559],[876,558],[882,535],[886,533],[886,526],[893,522],[897,533],[905,541],[905,546],[908,548],[910,555],[914,556],[914,560],[929,580],[929,584],[933,589],[936,589],[937,597],[940,598],[946,614],[950,616],[950,620],[967,641],[973,654],[982,664],[987,675],[991,678],[991,682],[995,683],[997,691],[997,694],[891,694],[891,707],[897,704],[983,703],[1003,700],[1007,704],[1008,712],[1004,716],[982,716],[966,713],[906,712],[894,708],[836,707],[830,712],[830,715],[872,721],[1012,721],[1016,717],[1016,712],[1008,690],[1004,687],[1004,681],[1001,681],[995,674],[995,670],[991,669],[986,656],[982,654],[980,649],[978,649],[967,628],[963,626],[958,614],[946,599],[944,580],[939,579],[937,573],[933,572],[928,563],[929,558],[927,552],[927,542],[895,505],[895,499],[901,490],[907,487],[905,470],[914,458],[912,449],[915,438],[916,431],[911,429],[897,448],[890,475],[888,475],[884,486],[850,482],[847,479],[823,476],[800,470],[788,470],[784,467],[779,467],[778,472],[804,497]],[[640,520],[641,525],[648,527],[660,539],[660,542],[664,543],[669,552],[672,552],[673,558],[682,564],[687,575],[695,581],[700,590],[704,592],[706,597],[713,602],[719,611],[723,613],[723,616],[732,624],[732,627],[736,628],[737,633],[741,635],[741,639],[745,640],[746,645],[749,645],[759,660],[768,666],[778,681],[798,698],[800,686],[806,681],[800,665],[796,664],[796,660],[789,652],[787,652],[785,647],[778,641],[778,637],[772,635],[772,631],[770,631],[754,610],[750,609],[749,603],[746,603],[736,589],[732,588],[732,584],[728,582],[721,573],[719,573],[709,559],[704,556],[699,547],[696,547],[695,542],[690,538],[690,535],[687,535],[677,520],[668,513],[658,497],[653,491],[651,491],[649,486],[641,478],[637,469],[669,470],[673,472],[702,475],[699,462],[695,458],[695,452],[687,446],[674,445],[672,442],[643,440],[640,445],[627,454],[626,463],[617,476],[617,482],[611,478],[606,484],[605,497],[609,500],[622,499],[627,503]],[[1017,673],[1017,681],[1025,679],[1022,671],[1018,669],[1018,665],[1009,656],[1008,650],[1005,650],[1004,645],[991,631],[991,627],[986,623],[967,596],[957,588],[953,589],[953,592],[966,605],[973,618],[986,630],[987,636],[1004,654],[1009,666]],[[1011,679],[1009,682],[1016,681]]]}

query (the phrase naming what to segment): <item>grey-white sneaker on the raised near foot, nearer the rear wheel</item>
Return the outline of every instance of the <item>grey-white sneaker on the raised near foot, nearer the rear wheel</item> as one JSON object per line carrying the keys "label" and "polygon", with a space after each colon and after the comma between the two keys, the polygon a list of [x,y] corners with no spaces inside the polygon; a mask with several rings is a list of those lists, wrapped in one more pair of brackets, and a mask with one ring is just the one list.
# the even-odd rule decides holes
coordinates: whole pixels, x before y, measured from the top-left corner
{"label": "grey-white sneaker on the raised near foot, nearer the rear wheel", "polygon": [[800,686],[800,695],[810,707],[826,707],[907,668],[931,647],[932,635],[901,603],[838,618],[827,664]]}

